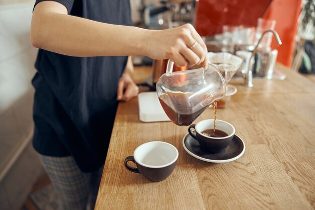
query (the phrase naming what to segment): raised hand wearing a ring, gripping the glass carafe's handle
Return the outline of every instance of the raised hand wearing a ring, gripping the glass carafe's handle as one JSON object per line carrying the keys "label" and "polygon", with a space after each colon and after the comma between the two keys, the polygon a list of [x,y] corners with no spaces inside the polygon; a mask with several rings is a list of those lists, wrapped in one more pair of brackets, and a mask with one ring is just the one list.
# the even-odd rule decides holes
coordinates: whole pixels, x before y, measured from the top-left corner
{"label": "raised hand wearing a ring, gripping the glass carafe's handle", "polygon": [[191,24],[167,29],[152,30],[146,41],[146,56],[153,59],[171,59],[177,66],[208,62],[207,47]]}

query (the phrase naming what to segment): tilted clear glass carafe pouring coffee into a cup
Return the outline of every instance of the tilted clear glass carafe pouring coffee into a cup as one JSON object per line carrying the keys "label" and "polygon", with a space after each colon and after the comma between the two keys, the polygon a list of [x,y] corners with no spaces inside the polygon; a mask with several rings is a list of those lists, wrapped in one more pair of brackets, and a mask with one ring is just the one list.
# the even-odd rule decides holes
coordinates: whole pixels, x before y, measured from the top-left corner
{"label": "tilted clear glass carafe pouring coffee into a cup", "polygon": [[190,125],[211,103],[223,98],[224,79],[212,64],[207,68],[174,72],[169,60],[167,71],[156,83],[160,103],[177,125]]}

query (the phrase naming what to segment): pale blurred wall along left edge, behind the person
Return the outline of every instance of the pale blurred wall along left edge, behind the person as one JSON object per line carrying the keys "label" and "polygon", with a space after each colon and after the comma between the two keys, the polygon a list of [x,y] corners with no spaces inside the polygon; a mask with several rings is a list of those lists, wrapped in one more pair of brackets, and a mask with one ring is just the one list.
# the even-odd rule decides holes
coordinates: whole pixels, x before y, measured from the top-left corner
{"label": "pale blurred wall along left edge, behind the person", "polygon": [[[4,1],[2,2],[4,3]],[[37,49],[30,43],[33,3],[0,6],[0,209],[18,210],[42,166],[31,146]]]}

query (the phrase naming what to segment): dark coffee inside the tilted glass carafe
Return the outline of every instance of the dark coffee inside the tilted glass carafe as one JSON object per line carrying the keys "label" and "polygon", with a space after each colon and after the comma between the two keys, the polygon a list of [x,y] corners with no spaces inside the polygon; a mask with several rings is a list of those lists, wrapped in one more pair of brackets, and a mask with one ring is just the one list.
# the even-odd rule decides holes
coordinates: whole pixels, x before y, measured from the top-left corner
{"label": "dark coffee inside the tilted glass carafe", "polygon": [[190,125],[213,101],[210,94],[167,91],[159,96],[160,103],[170,120],[181,126]]}

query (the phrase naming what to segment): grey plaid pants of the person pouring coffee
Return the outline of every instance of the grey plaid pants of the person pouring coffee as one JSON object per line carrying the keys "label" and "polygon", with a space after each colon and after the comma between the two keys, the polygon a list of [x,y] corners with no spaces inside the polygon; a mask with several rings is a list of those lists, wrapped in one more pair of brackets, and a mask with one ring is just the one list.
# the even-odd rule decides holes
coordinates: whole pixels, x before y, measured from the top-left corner
{"label": "grey plaid pants of the person pouring coffee", "polygon": [[84,173],[72,156],[39,158],[58,192],[63,210],[94,209],[103,167]]}

